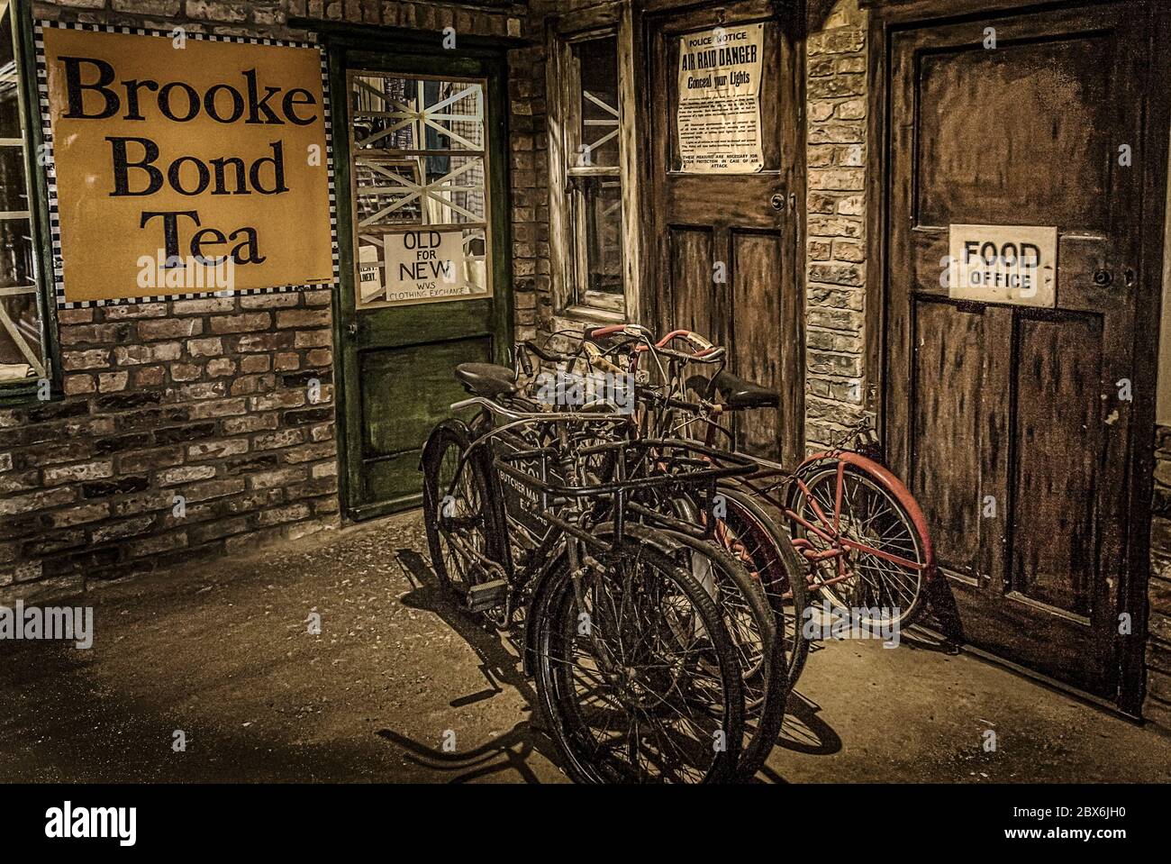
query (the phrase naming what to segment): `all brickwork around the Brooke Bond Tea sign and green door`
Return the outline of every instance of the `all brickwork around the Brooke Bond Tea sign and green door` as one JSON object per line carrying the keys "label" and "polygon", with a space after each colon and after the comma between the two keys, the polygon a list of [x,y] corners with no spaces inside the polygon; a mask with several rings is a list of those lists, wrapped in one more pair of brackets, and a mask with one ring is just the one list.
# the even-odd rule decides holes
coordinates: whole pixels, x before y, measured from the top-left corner
{"label": "all brickwork around the Brooke Bond Tea sign and green door", "polygon": [[[289,15],[520,35],[520,7],[349,0],[55,0],[39,18],[303,39]],[[543,69],[509,84],[518,297],[533,296],[548,219]],[[527,78],[537,75],[539,87]],[[536,125],[534,125],[536,123]],[[326,218],[326,214],[322,214]],[[547,256],[547,248],[545,249]],[[548,277],[546,258],[545,277]],[[338,522],[331,292],[60,313],[64,397],[0,410],[0,603],[75,590]],[[532,327],[535,302],[518,301]],[[182,499],[183,506],[178,507]]]}

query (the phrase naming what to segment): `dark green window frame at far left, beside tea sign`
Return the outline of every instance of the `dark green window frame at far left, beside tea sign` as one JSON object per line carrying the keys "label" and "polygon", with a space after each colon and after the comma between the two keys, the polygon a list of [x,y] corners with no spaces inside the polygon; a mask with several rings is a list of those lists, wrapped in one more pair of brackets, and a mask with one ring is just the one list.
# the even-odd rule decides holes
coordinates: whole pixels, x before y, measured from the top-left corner
{"label": "dark green window frame at far left, beside tea sign", "polygon": [[[33,36],[30,0],[8,0],[13,37],[16,48],[16,73],[20,78],[20,112],[25,133],[25,171],[28,184],[29,229],[33,235],[33,263],[36,277],[36,307],[41,323],[41,358],[49,380],[50,398],[62,392],[61,341],[57,332],[56,276],[53,268],[52,234],[49,231],[49,190],[44,169],[37,164],[36,153],[43,152],[41,103],[36,77],[36,43]],[[41,382],[29,378],[20,382],[0,382],[0,407],[41,400]]]}

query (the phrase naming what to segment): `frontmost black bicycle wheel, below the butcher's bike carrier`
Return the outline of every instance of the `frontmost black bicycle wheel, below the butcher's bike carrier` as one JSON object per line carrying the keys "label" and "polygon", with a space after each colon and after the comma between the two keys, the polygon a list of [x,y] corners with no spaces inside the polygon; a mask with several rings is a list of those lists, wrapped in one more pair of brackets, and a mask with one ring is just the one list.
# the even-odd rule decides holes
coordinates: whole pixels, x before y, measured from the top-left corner
{"label": "frontmost black bicycle wheel, below the butcher's bike carrier", "polygon": [[529,611],[537,701],[576,782],[735,777],[744,690],[711,595],[634,537],[576,578],[554,564]]}

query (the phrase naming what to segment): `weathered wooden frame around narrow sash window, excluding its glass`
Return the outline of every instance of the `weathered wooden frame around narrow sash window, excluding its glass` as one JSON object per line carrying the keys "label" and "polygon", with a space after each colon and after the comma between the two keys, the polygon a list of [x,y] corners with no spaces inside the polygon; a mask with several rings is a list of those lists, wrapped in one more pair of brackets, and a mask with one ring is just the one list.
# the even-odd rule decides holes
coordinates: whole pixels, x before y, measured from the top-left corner
{"label": "weathered wooden frame around narrow sash window, excluding its glass", "polygon": [[[574,46],[595,39],[616,40],[618,76],[617,166],[576,164],[581,87],[575,75]],[[554,311],[577,321],[632,321],[639,313],[638,146],[635,131],[636,95],[634,21],[630,4],[604,4],[552,19],[546,30],[549,263]],[[568,188],[575,177],[617,177],[622,184],[623,293],[587,293],[582,247],[583,198]]]}

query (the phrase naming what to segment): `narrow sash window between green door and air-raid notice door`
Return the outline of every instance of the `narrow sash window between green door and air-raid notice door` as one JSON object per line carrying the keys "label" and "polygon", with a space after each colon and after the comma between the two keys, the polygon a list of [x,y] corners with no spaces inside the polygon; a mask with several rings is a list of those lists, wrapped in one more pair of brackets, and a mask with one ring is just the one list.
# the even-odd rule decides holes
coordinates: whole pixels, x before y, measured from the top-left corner
{"label": "narrow sash window between green door and air-raid notice door", "polygon": [[[619,29],[554,37],[550,105],[550,253],[559,311],[621,320],[630,284],[632,153],[623,123]],[[628,118],[629,119],[629,118]]]}

